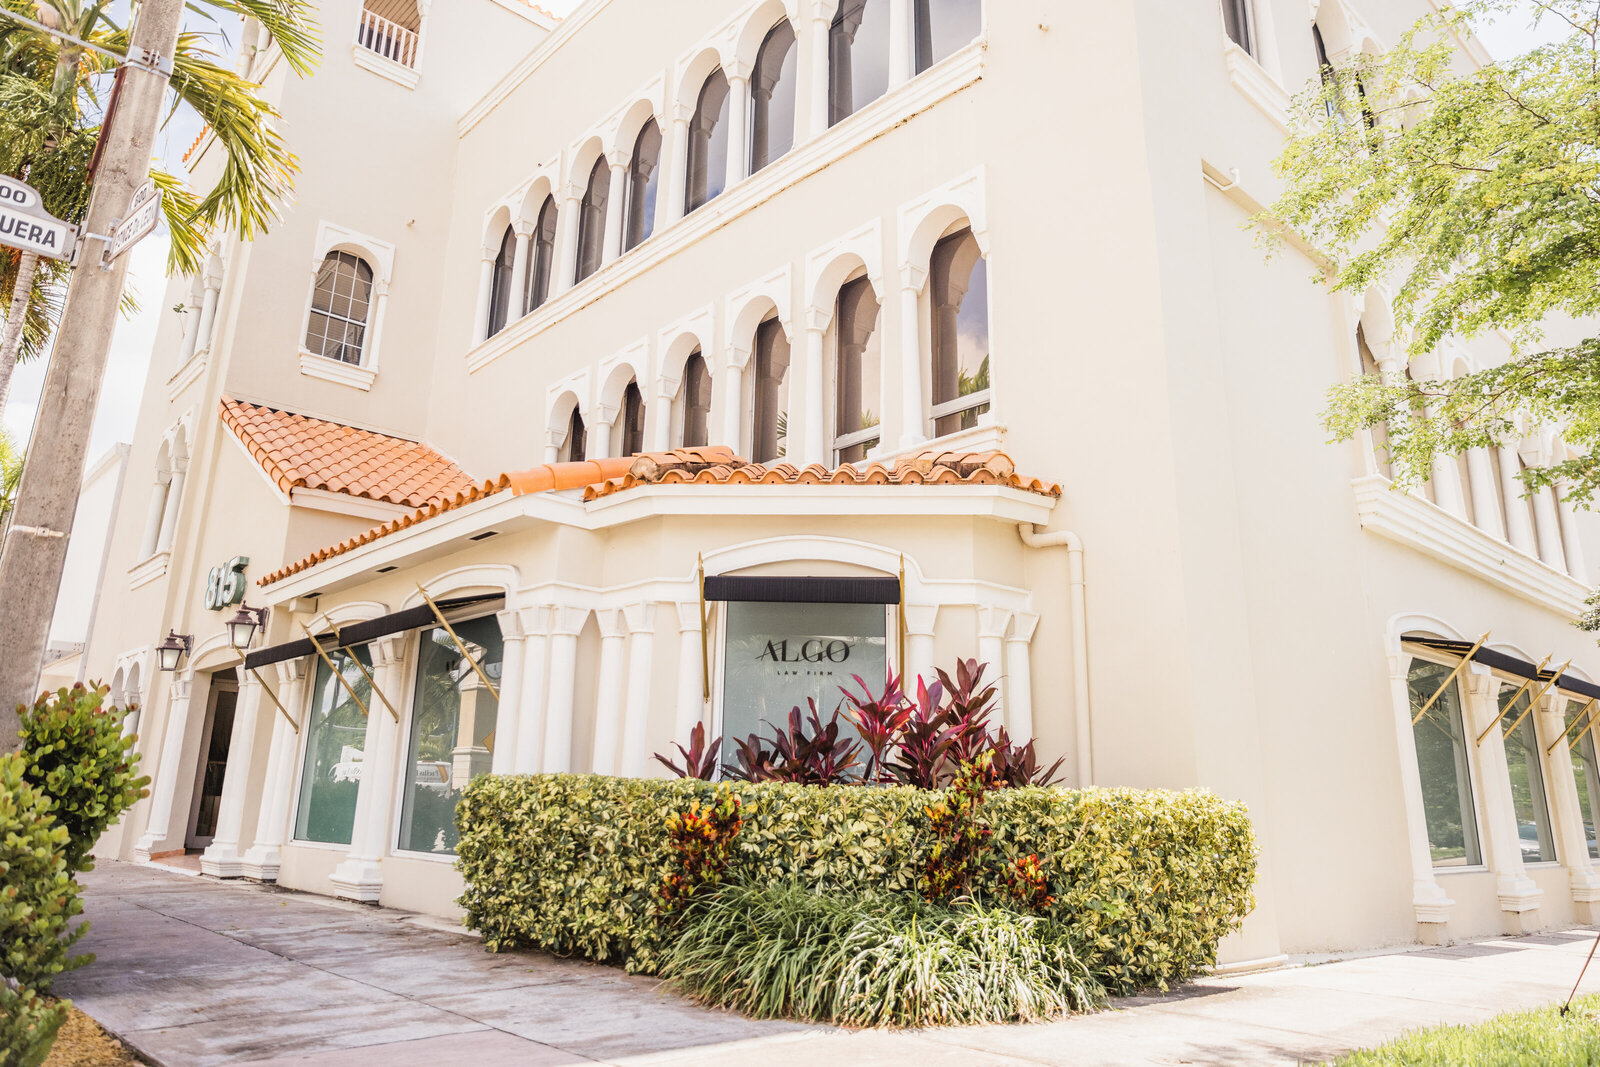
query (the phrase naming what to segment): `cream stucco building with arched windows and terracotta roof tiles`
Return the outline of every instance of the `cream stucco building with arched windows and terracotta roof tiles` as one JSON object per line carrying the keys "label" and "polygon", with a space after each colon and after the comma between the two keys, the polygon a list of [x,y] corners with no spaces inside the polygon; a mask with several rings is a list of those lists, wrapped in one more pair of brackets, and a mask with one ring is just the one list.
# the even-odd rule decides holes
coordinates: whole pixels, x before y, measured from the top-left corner
{"label": "cream stucco building with arched windows and terracotta roof tiles", "polygon": [[294,203],[165,301],[102,851],[451,913],[474,774],[976,656],[1072,784],[1248,801],[1229,961],[1589,921],[1600,545],[1514,485],[1562,445],[1390,491],[1318,421],[1403,373],[1386,294],[1243,226],[1318,48],[1426,10],[328,0],[314,78],[248,53]]}

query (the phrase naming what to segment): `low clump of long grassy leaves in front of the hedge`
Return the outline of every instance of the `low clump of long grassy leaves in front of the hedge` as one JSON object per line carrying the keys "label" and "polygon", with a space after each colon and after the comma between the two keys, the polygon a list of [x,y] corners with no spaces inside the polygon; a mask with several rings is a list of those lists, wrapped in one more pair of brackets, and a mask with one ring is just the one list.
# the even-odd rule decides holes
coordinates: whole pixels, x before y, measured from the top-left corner
{"label": "low clump of long grassy leaves in front of the hedge", "polygon": [[1037,915],[795,885],[696,904],[664,974],[717,1008],[867,1027],[1037,1022],[1102,995],[1067,931]]}

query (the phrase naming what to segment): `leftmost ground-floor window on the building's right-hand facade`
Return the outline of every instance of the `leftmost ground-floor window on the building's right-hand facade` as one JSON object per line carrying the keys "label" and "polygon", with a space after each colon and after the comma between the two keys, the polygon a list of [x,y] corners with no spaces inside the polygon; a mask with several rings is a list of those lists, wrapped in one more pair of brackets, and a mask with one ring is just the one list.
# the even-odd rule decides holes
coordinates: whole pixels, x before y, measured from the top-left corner
{"label": "leftmost ground-floor window on the building's right-hand facade", "polygon": [[[1445,685],[1450,667],[1426,659],[1411,661],[1408,688],[1411,717]],[[1411,726],[1416,739],[1418,773],[1422,777],[1422,809],[1427,817],[1427,845],[1435,867],[1474,867],[1483,862],[1478,851],[1478,824],[1472,806],[1472,774],[1467,766],[1470,741],[1461,723],[1461,688],[1450,681],[1427,713]]]}

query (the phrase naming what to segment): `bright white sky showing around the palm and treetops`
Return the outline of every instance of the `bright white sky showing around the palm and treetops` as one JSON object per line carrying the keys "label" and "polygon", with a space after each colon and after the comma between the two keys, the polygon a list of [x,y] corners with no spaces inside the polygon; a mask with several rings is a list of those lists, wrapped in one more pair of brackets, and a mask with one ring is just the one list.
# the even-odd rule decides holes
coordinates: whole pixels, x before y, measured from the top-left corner
{"label": "bright white sky showing around the palm and treetops", "polygon": [[[539,0],[541,6],[555,14],[566,14],[581,0]],[[1371,2],[1371,0],[1370,0]],[[1382,0],[1376,0],[1382,2]],[[1478,27],[1478,35],[1494,56],[1514,56],[1544,42],[1554,26],[1539,30],[1528,26],[1530,16],[1509,16],[1499,22]],[[174,115],[158,139],[158,155],[174,171],[182,170],[182,154],[194,141],[198,123],[184,112]],[[110,362],[106,368],[106,384],[101,392],[99,411],[94,418],[94,434],[90,440],[90,464],[117,442],[133,440],[139,416],[139,395],[150,363],[150,347],[160,323],[162,296],[165,294],[166,235],[165,227],[144,238],[131,253],[128,283],[141,298],[141,310],[125,317],[117,325],[112,339]],[[5,429],[14,440],[26,440],[34,414],[38,410],[38,394],[45,384],[45,360],[34,360],[16,370],[11,397],[5,410]]]}

